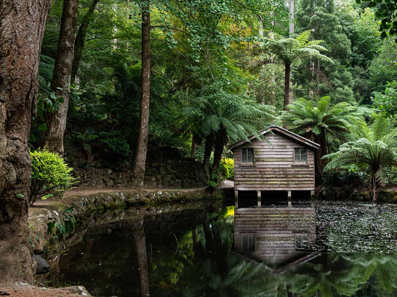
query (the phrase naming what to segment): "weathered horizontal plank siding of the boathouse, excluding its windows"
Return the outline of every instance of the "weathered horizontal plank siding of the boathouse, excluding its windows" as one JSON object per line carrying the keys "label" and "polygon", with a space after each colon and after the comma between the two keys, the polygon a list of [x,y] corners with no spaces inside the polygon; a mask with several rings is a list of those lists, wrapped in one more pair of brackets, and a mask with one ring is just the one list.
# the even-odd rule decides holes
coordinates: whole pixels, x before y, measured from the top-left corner
{"label": "weathered horizontal plank siding of the boathouse, excluding its windows", "polygon": [[[235,190],[314,190],[314,150],[283,134],[267,133],[265,140],[252,139],[234,152]],[[254,148],[254,165],[241,165],[241,148]],[[307,148],[307,164],[294,164],[295,147]]]}

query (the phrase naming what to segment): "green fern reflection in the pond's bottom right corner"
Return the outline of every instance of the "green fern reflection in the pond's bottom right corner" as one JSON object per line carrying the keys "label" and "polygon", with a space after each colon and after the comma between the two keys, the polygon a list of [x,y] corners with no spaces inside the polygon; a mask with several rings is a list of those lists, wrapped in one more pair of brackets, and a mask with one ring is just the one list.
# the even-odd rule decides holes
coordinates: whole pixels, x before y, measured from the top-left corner
{"label": "green fern reflection in the pond's bottom right corner", "polygon": [[[395,255],[331,252],[324,263],[305,263],[287,273],[294,296],[395,296]],[[376,292],[370,294],[370,292]]]}

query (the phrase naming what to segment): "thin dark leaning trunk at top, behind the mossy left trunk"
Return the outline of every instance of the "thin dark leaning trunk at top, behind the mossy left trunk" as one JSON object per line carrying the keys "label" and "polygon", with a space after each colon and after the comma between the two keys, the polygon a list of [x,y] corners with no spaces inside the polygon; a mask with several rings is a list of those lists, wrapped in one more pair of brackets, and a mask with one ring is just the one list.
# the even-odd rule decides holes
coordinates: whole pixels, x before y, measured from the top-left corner
{"label": "thin dark leaning trunk at top, behind the mossy left trunk", "polygon": [[84,15],[83,19],[81,20],[79,30],[77,31],[77,35],[75,38],[75,45],[74,45],[72,72],[70,78],[70,82],[72,84],[76,82],[76,74],[77,74],[77,70],[79,70],[81,56],[83,54],[83,47],[85,42],[85,36],[87,35],[88,25],[93,17],[95,6],[96,4],[98,4],[98,2],[99,0],[92,0],[87,13]]}

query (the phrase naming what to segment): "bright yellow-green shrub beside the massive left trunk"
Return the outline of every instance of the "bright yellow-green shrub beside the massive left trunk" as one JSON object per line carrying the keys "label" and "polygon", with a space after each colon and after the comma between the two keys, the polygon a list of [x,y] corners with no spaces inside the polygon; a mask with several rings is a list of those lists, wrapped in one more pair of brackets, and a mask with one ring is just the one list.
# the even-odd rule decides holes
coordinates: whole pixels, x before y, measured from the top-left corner
{"label": "bright yellow-green shrub beside the massive left trunk", "polygon": [[73,168],[67,166],[64,159],[46,149],[30,152],[32,159],[32,179],[29,202],[32,205],[38,196],[43,200],[56,196],[63,197],[64,192],[78,178],[73,177]]}

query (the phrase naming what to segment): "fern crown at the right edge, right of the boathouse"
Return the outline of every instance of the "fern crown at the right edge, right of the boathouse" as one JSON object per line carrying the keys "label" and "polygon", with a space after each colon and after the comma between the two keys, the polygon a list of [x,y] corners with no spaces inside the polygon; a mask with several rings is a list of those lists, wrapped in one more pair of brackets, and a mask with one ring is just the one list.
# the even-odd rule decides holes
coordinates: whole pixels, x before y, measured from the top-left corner
{"label": "fern crown at the right edge, right of the boathouse", "polygon": [[379,169],[397,164],[397,128],[387,117],[374,115],[372,125],[362,119],[346,125],[350,130],[348,141],[337,152],[324,156],[330,161],[324,171],[347,164],[367,164],[374,176]]}

